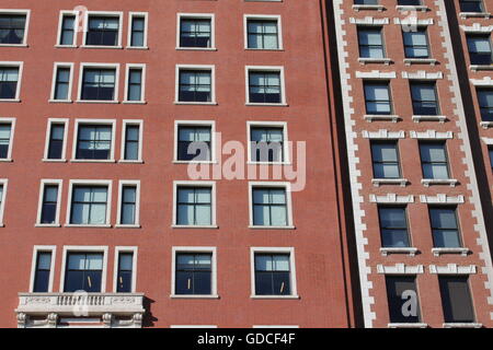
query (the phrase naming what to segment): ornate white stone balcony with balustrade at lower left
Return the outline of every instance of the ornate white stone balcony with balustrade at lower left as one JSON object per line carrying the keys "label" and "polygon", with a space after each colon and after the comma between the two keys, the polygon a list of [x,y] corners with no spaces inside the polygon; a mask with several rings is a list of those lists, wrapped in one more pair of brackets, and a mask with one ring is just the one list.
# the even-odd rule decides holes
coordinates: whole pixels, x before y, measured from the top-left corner
{"label": "ornate white stone balcony with balustrade at lower left", "polygon": [[100,327],[140,328],[142,293],[19,293],[19,328],[59,327],[62,319]]}

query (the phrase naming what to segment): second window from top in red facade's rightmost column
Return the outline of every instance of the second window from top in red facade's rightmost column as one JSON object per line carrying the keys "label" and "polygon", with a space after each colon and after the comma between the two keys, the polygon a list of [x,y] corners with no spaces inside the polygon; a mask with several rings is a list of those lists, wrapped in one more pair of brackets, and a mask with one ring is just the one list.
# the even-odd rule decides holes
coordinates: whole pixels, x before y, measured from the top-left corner
{"label": "second window from top in red facade's rightmost column", "polygon": [[284,104],[284,73],[280,70],[246,68],[250,104]]}

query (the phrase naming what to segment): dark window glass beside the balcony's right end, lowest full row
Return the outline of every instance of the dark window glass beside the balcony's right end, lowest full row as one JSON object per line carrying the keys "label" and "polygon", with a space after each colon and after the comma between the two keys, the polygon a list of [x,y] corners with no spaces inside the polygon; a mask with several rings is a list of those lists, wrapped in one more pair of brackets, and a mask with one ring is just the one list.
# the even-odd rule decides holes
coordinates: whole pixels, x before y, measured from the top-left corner
{"label": "dark window glass beside the balcony's right end, lowest full row", "polygon": [[176,254],[175,293],[211,294],[211,254]]}

